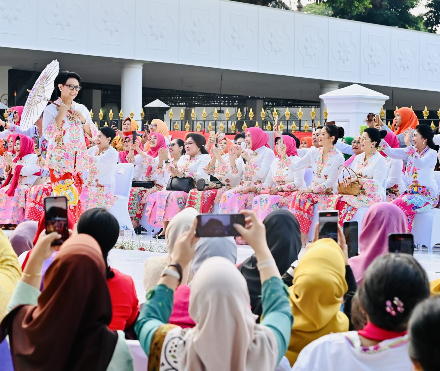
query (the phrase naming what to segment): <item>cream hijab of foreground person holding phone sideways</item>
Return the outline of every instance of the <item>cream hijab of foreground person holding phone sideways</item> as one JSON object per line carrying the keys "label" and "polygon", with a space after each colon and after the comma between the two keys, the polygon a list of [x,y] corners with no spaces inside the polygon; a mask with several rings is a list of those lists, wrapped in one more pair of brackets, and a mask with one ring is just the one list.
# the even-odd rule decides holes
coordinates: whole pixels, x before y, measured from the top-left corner
{"label": "cream hijab of foreground person holding phone sideways", "polygon": [[180,371],[275,370],[275,335],[256,324],[246,280],[223,257],[202,263],[191,285],[189,314],[196,323],[185,336]]}

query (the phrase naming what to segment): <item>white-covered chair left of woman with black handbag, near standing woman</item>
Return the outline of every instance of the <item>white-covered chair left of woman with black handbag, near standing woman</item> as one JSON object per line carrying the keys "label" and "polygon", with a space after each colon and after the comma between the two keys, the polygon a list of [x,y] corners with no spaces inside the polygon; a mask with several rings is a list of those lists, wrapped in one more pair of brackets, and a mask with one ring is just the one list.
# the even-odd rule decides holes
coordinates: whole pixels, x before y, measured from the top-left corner
{"label": "white-covered chair left of woman with black handbag, near standing woman", "polygon": [[119,225],[125,225],[128,229],[133,231],[132,220],[128,214],[128,200],[130,198],[130,190],[132,188],[133,164],[117,164],[114,178],[116,181],[115,196],[116,202],[110,208],[110,214],[112,214],[118,221]]}

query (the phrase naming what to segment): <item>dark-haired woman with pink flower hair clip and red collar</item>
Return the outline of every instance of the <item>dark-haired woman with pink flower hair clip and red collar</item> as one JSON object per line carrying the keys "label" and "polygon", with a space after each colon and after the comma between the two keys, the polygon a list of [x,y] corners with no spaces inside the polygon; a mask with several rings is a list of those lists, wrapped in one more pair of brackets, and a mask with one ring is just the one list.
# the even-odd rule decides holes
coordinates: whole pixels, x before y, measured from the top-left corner
{"label": "dark-haired woman with pink flower hair clip and red collar", "polygon": [[409,254],[382,255],[368,267],[357,295],[365,327],[310,343],[293,371],[412,369],[407,325],[414,307],[429,297],[425,270]]}

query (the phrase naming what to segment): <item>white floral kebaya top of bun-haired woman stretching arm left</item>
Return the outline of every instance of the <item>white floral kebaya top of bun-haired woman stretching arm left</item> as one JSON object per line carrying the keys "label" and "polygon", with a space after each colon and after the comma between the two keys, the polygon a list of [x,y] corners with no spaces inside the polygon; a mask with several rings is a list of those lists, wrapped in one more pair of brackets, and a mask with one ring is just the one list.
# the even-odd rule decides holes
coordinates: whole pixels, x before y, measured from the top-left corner
{"label": "white floral kebaya top of bun-haired woman stretching arm left", "polygon": [[[344,156],[332,147],[323,158],[323,148],[315,148],[304,155],[303,158],[290,164],[292,171],[312,167],[313,180],[309,185],[313,193],[337,193],[337,169],[344,164]],[[342,169],[341,169],[342,170]]]}

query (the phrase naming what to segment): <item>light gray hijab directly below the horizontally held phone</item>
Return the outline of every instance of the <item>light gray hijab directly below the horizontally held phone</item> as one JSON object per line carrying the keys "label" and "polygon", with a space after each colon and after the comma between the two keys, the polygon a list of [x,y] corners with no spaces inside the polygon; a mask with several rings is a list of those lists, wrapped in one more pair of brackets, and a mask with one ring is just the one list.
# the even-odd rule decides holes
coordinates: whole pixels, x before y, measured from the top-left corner
{"label": "light gray hijab directly below the horizontally held phone", "polygon": [[222,256],[235,264],[237,262],[237,244],[235,244],[234,238],[203,237],[198,240],[191,267],[193,274],[198,271],[206,259],[213,256]]}

